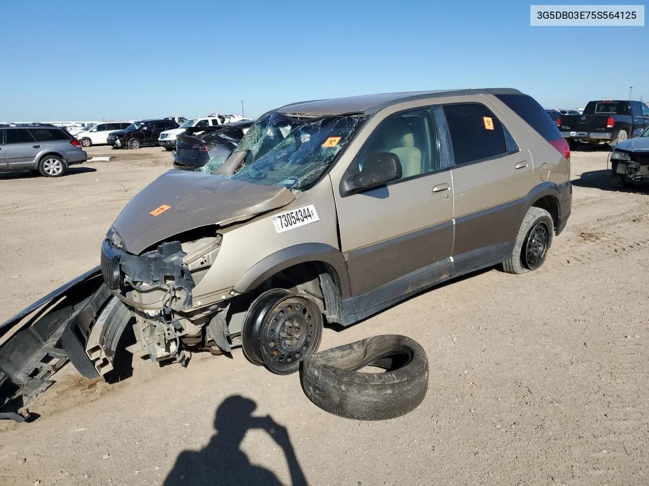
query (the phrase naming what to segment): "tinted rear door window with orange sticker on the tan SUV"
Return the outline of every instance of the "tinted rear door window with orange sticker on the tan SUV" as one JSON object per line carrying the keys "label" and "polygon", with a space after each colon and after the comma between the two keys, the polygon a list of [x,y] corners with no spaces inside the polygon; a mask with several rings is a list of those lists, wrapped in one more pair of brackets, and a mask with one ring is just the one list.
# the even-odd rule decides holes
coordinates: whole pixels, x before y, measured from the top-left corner
{"label": "tinted rear door window with orange sticker on the tan SUV", "polygon": [[502,124],[483,104],[445,105],[443,111],[450,133],[455,165],[492,159],[508,153]]}

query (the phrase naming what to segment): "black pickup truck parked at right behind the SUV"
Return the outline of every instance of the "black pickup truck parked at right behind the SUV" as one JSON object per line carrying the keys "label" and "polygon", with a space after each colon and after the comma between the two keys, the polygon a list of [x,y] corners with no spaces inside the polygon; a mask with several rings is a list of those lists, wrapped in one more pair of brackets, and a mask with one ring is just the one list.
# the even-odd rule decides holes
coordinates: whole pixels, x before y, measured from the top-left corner
{"label": "black pickup truck parked at right behind the SUV", "polygon": [[639,101],[590,101],[581,115],[561,115],[557,126],[571,146],[582,141],[614,147],[649,126],[649,107]]}

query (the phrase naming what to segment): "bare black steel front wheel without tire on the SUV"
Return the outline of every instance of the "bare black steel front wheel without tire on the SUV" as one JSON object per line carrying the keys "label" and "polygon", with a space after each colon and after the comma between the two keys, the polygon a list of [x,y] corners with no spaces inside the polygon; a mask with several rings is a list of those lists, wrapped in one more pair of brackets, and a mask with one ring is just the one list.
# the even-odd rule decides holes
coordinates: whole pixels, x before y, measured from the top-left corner
{"label": "bare black steel front wheel without tire on the SUV", "polygon": [[323,323],[323,315],[310,297],[286,295],[263,318],[259,336],[263,363],[277,375],[295,373],[300,362],[317,351]]}

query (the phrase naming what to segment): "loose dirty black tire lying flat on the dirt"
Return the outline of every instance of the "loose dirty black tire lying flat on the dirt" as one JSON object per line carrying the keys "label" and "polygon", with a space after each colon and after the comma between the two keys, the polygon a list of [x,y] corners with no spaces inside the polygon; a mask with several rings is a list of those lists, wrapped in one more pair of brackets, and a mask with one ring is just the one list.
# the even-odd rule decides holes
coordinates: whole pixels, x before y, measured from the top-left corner
{"label": "loose dirty black tire lying flat on the dirt", "polygon": [[[365,366],[385,373],[356,371]],[[329,413],[364,421],[400,417],[419,406],[428,389],[428,358],[406,336],[386,334],[308,356],[300,369],[302,389]]]}

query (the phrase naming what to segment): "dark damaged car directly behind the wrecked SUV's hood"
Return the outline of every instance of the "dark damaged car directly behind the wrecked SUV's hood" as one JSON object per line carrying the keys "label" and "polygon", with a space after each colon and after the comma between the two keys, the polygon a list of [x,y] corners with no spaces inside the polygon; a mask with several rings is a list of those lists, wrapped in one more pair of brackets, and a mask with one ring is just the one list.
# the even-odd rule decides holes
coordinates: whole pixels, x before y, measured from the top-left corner
{"label": "dark damaged car directly behind the wrecked SUV's hood", "polygon": [[[252,123],[252,120],[243,120],[221,126],[188,128],[177,135],[173,167],[181,170],[204,167],[211,172],[225,162]],[[201,134],[195,135],[195,132]]]}

